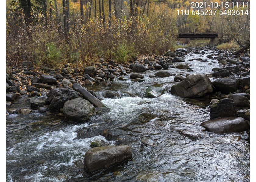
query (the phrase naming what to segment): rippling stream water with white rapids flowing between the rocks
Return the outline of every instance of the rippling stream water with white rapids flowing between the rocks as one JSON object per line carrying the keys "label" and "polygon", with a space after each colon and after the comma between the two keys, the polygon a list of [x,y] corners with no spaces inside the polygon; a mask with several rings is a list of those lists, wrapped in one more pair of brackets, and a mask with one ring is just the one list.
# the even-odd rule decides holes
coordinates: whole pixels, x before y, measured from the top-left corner
{"label": "rippling stream water with white rapids flowing between the rocks", "polygon": [[[211,51],[206,50],[206,54]],[[188,62],[207,59],[206,54],[199,57],[190,53],[185,63],[194,72],[211,77],[213,67],[222,67],[216,60],[209,60],[212,65],[199,60]],[[193,73],[176,68],[167,71]],[[67,121],[58,113],[7,116],[6,181],[249,181],[249,141],[241,139],[241,133],[203,130],[200,123],[210,119],[209,98],[185,99],[167,91],[158,98],[145,98],[148,86],[157,83],[168,88],[175,83],[174,76],[148,77],[155,72],[143,73],[144,82],[115,78],[109,88],[104,84],[87,86],[100,97],[106,89],[116,93],[116,98],[102,100],[111,111],[94,115],[87,123]],[[9,108],[29,108],[27,99]],[[141,104],[144,101],[151,102]],[[107,129],[113,138],[76,138],[77,133],[87,129]],[[95,140],[109,145],[127,144],[133,159],[88,177],[83,158]]]}

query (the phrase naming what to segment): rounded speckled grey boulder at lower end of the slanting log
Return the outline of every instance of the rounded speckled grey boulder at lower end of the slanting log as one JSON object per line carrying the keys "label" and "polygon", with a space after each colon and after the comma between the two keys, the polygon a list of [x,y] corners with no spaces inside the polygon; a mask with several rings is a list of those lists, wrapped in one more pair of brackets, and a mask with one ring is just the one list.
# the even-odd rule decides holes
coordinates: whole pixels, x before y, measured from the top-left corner
{"label": "rounded speckled grey boulder at lower end of the slanting log", "polygon": [[72,99],[64,103],[63,113],[71,120],[87,121],[93,114],[94,106],[85,99]]}

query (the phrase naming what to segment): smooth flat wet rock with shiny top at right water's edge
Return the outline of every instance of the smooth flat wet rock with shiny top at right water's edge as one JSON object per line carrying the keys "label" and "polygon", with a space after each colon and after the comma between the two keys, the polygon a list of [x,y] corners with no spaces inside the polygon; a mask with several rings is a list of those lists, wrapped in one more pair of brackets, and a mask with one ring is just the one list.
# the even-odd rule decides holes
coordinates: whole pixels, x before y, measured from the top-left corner
{"label": "smooth flat wet rock with shiny top at right water's edge", "polygon": [[241,132],[250,128],[249,124],[241,117],[223,117],[214,120],[208,120],[201,123],[201,126],[207,131],[213,133],[232,133]]}

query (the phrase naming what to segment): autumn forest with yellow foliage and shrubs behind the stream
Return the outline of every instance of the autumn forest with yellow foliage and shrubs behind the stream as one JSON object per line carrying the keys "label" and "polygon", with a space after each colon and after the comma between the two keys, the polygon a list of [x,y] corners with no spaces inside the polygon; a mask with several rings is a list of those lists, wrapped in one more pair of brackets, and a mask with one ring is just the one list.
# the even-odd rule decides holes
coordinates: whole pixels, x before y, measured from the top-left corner
{"label": "autumn forest with yellow foliage and shrubs behind the stream", "polygon": [[124,61],[173,49],[178,32],[225,33],[241,43],[249,39],[250,15],[192,15],[200,9],[191,8],[192,2],[198,0],[7,0],[7,60],[25,54],[51,66],[58,66],[60,57],[80,65],[99,56]]}

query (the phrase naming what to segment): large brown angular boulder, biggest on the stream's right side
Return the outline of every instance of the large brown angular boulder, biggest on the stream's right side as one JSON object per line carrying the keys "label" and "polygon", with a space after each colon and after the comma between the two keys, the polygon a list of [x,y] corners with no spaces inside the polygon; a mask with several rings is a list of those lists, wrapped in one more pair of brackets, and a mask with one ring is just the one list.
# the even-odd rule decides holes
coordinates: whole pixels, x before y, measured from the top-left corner
{"label": "large brown angular boulder, biggest on the stream's right side", "polygon": [[211,80],[203,74],[191,74],[171,87],[171,93],[180,97],[202,97],[212,93]]}

